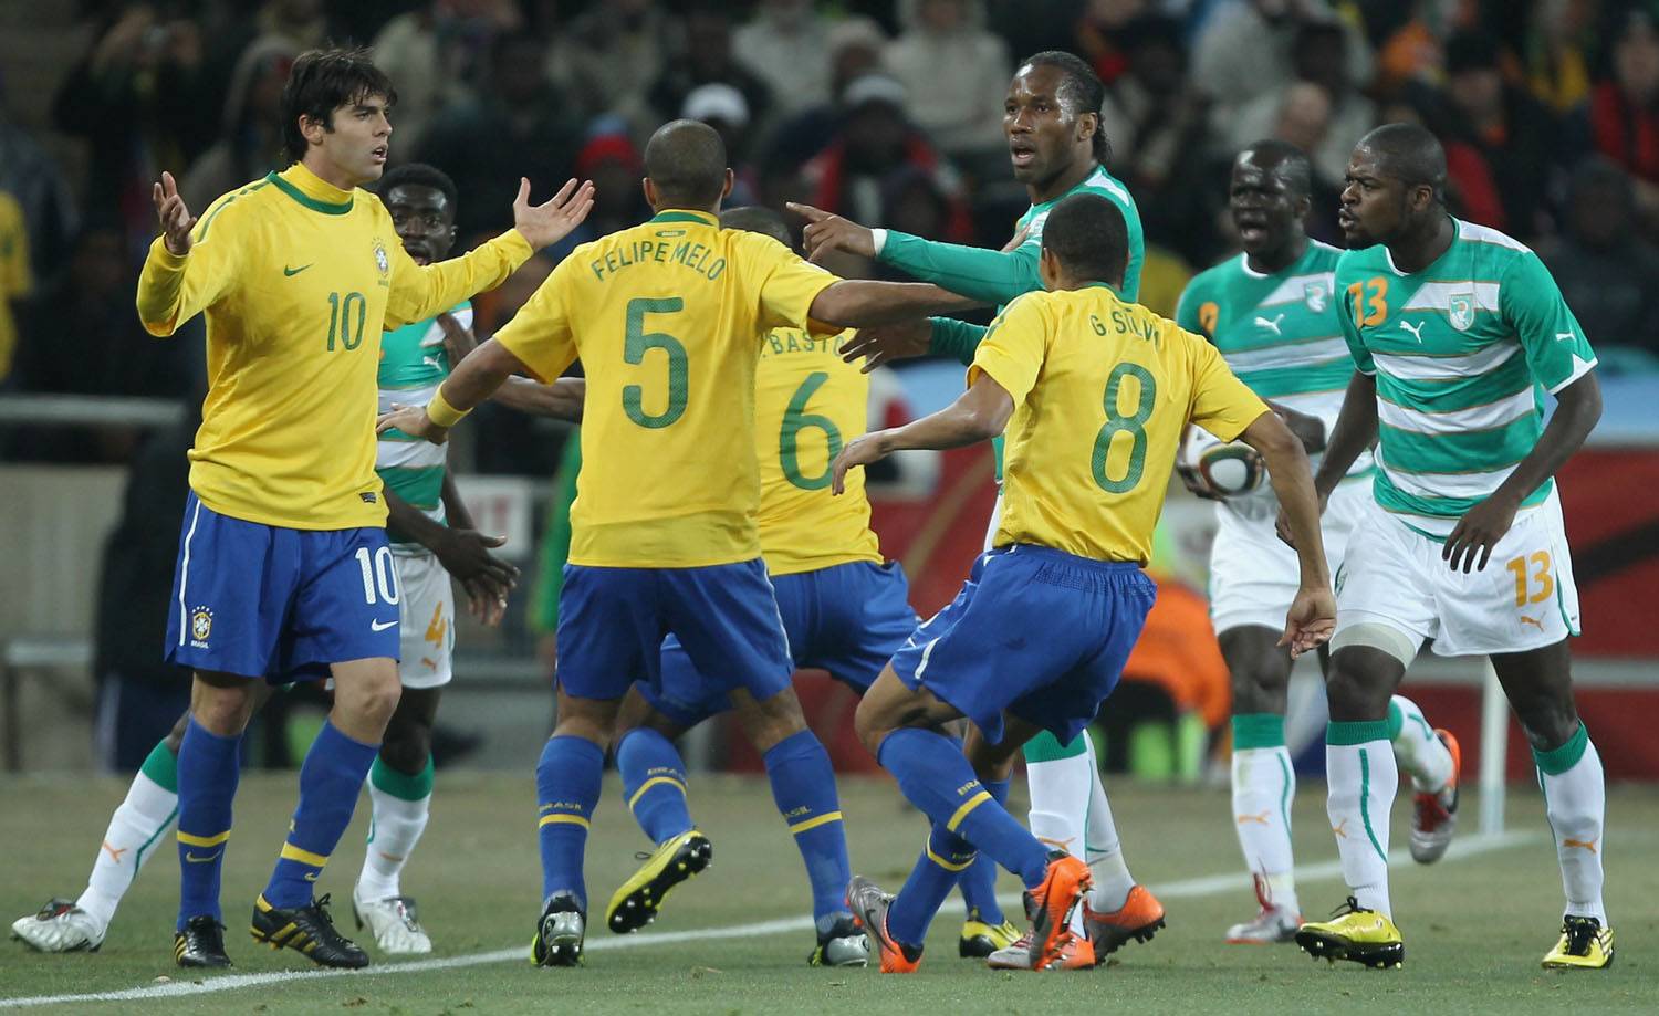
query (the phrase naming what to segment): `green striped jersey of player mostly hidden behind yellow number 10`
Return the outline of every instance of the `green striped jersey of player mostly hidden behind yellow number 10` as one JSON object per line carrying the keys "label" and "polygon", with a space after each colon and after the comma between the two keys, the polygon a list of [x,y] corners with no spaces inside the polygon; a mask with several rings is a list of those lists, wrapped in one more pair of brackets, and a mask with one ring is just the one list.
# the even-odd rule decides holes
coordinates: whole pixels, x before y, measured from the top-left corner
{"label": "green striped jersey of player mostly hidden behind yellow number 10", "polygon": [[[456,303],[450,308],[463,328],[473,327],[473,305]],[[443,328],[436,318],[413,322],[380,336],[380,411],[392,403],[421,406],[450,376],[450,356],[443,350]],[[435,522],[443,524],[443,472],[446,448],[403,431],[387,431],[380,436],[375,454],[375,472],[388,491],[410,502]],[[388,529],[393,544],[411,544],[410,537]]]}

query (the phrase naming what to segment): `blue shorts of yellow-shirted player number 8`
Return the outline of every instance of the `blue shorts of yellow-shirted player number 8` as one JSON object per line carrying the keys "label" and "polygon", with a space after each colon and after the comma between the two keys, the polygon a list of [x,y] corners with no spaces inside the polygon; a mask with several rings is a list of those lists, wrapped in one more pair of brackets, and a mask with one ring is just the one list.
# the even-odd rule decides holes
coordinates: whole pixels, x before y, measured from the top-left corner
{"label": "blue shorts of yellow-shirted player number 8", "polygon": [[992,744],[1004,709],[1065,744],[1112,694],[1156,593],[1135,562],[997,547],[911,635],[893,670],[956,706]]}

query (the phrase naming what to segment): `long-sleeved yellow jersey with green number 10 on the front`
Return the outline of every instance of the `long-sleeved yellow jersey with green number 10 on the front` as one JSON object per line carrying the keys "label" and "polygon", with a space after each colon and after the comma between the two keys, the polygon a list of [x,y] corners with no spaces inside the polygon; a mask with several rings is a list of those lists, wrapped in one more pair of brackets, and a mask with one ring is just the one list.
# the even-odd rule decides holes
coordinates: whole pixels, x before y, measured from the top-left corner
{"label": "long-sleeved yellow jersey with green number 10 on the front", "polygon": [[508,232],[416,265],[367,191],[295,162],[202,210],[189,254],[163,239],[138,278],[151,335],[207,318],[207,399],[191,489],[212,510],[287,529],[385,525],[375,476],[380,333],[499,285],[529,244]]}

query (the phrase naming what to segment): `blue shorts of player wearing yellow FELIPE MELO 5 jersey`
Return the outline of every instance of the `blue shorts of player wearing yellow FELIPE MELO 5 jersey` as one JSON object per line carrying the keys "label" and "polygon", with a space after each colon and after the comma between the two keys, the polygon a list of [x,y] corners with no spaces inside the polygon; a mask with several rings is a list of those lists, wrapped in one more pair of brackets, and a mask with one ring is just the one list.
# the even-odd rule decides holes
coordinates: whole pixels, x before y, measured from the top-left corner
{"label": "blue shorts of player wearing yellow FELIPE MELO 5 jersey", "polygon": [[768,699],[790,686],[790,643],[758,557],[702,568],[564,565],[556,680],[566,694],[622,698],[635,678],[660,686],[669,633],[698,670],[720,675],[720,693]]}

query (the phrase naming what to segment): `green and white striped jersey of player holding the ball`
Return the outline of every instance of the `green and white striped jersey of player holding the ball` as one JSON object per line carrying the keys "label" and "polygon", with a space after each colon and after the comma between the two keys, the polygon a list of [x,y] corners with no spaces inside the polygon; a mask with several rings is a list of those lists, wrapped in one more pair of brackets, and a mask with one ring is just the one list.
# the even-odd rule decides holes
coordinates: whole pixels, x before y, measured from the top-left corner
{"label": "green and white striped jersey of player holding the ball", "polygon": [[[1309,240],[1281,272],[1256,272],[1239,254],[1199,272],[1181,293],[1175,322],[1209,338],[1239,381],[1264,399],[1337,426],[1342,393],[1354,376],[1337,325],[1334,272],[1342,252]],[[1349,476],[1372,467],[1370,454]]]}

